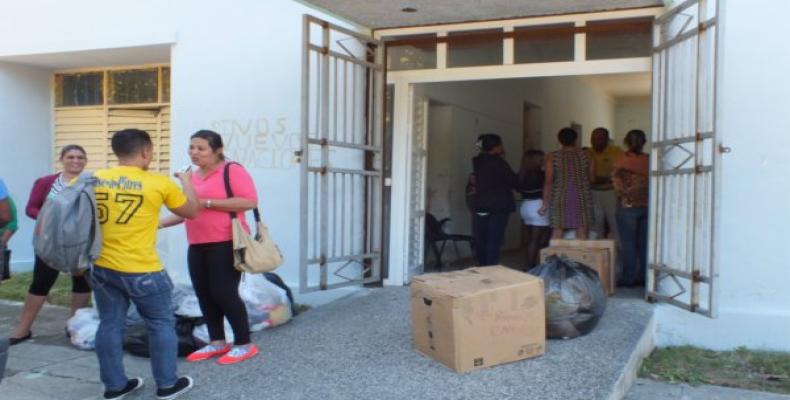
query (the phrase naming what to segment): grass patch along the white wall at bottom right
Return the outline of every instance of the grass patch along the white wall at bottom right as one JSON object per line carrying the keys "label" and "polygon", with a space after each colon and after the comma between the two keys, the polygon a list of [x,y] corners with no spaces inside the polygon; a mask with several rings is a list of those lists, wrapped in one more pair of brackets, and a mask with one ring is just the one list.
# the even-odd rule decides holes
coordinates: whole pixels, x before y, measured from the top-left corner
{"label": "grass patch along the white wall at bottom right", "polygon": [[639,376],[691,385],[717,385],[790,394],[790,353],[711,351],[696,347],[658,349],[646,358]]}

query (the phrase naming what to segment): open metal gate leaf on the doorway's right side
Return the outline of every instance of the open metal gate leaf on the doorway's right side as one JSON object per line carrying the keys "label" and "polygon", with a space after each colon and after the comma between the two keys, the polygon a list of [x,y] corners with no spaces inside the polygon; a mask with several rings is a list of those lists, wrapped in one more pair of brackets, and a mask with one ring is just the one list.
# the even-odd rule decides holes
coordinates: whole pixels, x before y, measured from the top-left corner
{"label": "open metal gate leaf on the doorway's right side", "polygon": [[653,52],[649,300],[715,316],[717,1],[656,19]]}

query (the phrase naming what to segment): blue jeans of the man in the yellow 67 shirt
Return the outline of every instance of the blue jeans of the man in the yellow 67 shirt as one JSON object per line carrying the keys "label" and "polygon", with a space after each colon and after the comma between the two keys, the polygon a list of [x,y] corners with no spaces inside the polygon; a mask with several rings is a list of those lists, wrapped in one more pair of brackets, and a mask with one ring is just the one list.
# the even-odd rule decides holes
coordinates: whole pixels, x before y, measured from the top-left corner
{"label": "blue jeans of the man in the yellow 67 shirt", "polygon": [[173,282],[166,272],[128,274],[94,267],[88,273],[99,310],[96,355],[107,390],[121,390],[128,378],[123,368],[126,313],[134,303],[148,328],[151,370],[159,388],[176,384],[178,337],[172,308]]}

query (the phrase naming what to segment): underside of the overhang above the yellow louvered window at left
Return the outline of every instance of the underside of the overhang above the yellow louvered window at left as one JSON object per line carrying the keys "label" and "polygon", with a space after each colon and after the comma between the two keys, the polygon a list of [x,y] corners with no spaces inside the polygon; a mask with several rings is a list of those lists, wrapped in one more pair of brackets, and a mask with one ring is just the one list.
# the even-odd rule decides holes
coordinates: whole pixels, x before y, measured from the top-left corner
{"label": "underside of the overhang above the yellow louvered window at left", "polygon": [[0,57],[0,61],[32,65],[46,69],[113,67],[122,65],[170,62],[170,45],[123,47],[63,53]]}

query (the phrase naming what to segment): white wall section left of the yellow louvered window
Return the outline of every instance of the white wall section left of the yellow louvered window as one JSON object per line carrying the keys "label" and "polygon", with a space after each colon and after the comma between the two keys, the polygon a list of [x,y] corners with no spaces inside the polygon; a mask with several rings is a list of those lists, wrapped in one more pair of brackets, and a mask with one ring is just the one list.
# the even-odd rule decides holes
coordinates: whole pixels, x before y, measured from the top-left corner
{"label": "white wall section left of the yellow louvered window", "polygon": [[19,231],[11,238],[12,271],[33,266],[33,220],[25,205],[39,176],[52,166],[50,72],[0,62],[0,178],[17,207]]}

